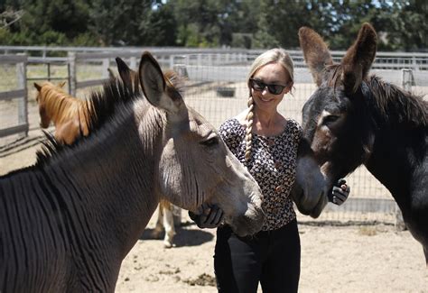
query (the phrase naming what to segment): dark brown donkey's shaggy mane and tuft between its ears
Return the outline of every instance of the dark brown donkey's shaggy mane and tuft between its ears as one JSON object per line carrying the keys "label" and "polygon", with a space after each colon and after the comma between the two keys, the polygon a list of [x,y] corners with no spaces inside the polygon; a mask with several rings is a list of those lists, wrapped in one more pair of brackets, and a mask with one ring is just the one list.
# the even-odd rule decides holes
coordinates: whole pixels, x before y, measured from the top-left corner
{"label": "dark brown donkey's shaggy mane and tuft between its ears", "polygon": [[[332,71],[330,86],[336,90],[340,85],[343,67],[340,64],[326,67]],[[400,87],[385,82],[376,75],[364,79],[368,86],[372,101],[365,101],[367,105],[375,106],[378,118],[386,123],[404,123],[413,127],[426,127],[428,125],[428,102],[423,95],[417,96]]]}

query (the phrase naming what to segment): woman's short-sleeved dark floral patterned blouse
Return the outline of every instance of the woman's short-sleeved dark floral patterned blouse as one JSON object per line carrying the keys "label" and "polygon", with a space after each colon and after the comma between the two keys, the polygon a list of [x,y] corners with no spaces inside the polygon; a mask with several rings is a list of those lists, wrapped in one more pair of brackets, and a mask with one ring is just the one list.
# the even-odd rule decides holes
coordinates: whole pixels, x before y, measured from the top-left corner
{"label": "woman's short-sleeved dark floral patterned blouse", "polygon": [[236,118],[220,126],[219,133],[228,148],[249,170],[262,189],[266,218],[262,230],[276,230],[295,219],[290,191],[296,176],[297,149],[302,128],[287,120],[284,132],[275,136],[253,133],[251,158],[245,160],[246,127]]}

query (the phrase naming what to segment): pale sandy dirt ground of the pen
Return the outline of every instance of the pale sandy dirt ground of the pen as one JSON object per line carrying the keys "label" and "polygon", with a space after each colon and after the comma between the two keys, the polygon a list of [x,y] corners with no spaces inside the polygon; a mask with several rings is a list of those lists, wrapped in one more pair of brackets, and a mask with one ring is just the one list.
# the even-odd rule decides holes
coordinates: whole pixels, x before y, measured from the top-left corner
{"label": "pale sandy dirt ground of the pen", "polygon": [[[0,148],[0,175],[33,164],[34,142]],[[182,212],[176,247],[152,239],[152,220],[123,261],[116,292],[216,292],[214,230]],[[301,292],[428,292],[423,250],[408,231],[387,224],[301,223]],[[261,291],[261,290],[260,290]]]}

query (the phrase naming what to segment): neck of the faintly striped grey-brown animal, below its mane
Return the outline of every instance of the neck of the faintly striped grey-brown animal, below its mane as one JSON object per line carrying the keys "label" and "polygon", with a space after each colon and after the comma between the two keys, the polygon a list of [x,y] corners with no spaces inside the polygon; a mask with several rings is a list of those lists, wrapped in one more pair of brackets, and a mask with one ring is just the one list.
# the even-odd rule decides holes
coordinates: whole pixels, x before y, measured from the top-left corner
{"label": "neck of the faintly striped grey-brown animal, below its mane", "polygon": [[116,244],[120,257],[134,246],[158,203],[160,136],[160,129],[152,129],[144,135],[151,141],[142,142],[134,113],[126,111],[46,166],[52,181],[64,182],[58,187],[63,200],[74,201],[99,239]]}

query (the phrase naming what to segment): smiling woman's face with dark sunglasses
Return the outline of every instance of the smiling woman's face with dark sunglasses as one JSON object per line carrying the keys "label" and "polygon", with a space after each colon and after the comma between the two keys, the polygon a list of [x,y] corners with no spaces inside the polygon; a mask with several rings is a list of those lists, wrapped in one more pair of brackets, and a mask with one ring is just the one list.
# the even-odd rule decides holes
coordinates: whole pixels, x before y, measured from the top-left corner
{"label": "smiling woman's face with dark sunglasses", "polygon": [[[293,86],[293,84],[290,83],[288,72],[279,63],[266,64],[255,72],[252,79],[255,79],[253,84],[258,84],[258,87],[256,85],[256,89],[255,87],[251,87],[253,100],[256,104],[256,108],[262,111],[275,112],[278,104],[283,100],[284,95],[288,93]],[[251,83],[250,81],[250,86]],[[261,88],[260,85],[264,88]],[[274,95],[269,92],[268,87],[265,87],[265,85],[286,87],[284,87],[278,95]]]}

